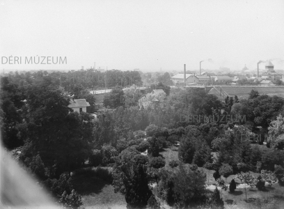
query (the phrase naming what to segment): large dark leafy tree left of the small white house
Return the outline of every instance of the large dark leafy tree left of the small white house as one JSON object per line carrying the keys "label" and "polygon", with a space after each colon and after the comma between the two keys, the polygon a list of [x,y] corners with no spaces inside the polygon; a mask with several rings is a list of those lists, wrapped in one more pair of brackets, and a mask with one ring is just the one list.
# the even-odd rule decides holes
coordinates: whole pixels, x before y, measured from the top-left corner
{"label": "large dark leafy tree left of the small white house", "polygon": [[59,173],[82,164],[93,140],[90,115],[70,112],[68,104],[61,89],[29,86],[24,123],[17,127],[27,155],[39,154],[45,166],[55,166]]}

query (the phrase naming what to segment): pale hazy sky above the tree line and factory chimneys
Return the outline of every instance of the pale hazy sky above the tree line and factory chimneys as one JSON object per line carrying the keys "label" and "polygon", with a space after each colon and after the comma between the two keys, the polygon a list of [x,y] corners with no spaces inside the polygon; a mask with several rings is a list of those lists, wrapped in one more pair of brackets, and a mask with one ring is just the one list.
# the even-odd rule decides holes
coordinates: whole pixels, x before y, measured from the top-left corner
{"label": "pale hazy sky above the tree line and factory chimneys", "polygon": [[[66,56],[0,70],[284,69],[283,0],[0,0],[0,56]],[[264,68],[264,64],[260,65]]]}

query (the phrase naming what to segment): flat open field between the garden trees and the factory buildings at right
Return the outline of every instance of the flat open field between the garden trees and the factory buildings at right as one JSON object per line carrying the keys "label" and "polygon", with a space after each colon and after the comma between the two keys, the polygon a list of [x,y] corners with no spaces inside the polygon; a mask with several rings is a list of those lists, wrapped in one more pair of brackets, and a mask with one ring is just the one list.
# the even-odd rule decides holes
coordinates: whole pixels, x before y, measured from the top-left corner
{"label": "flat open field between the garden trees and the factory buildings at right", "polygon": [[[222,86],[216,87],[219,91],[222,88],[222,91],[226,91],[228,95],[234,96],[237,95],[239,99],[247,99],[248,94],[251,90],[258,91],[260,95],[267,94],[270,96],[276,95],[278,97],[284,98],[284,87],[244,87],[244,86]],[[220,96],[216,91],[210,91],[211,94],[218,96],[218,98],[222,99],[223,95]]]}

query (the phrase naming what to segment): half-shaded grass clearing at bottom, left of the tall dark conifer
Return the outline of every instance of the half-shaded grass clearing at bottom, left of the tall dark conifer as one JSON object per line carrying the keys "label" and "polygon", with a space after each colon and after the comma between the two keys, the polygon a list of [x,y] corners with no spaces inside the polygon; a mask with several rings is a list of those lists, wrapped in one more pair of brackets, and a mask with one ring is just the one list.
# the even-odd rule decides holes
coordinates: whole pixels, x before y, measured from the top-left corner
{"label": "half-shaded grass clearing at bottom, left of the tall dark conifer", "polygon": [[81,194],[84,207],[86,209],[126,208],[125,196],[114,192],[110,180],[107,178],[104,180],[98,176],[100,175],[90,171],[78,172],[73,176],[74,189]]}

